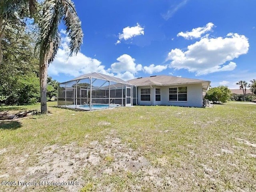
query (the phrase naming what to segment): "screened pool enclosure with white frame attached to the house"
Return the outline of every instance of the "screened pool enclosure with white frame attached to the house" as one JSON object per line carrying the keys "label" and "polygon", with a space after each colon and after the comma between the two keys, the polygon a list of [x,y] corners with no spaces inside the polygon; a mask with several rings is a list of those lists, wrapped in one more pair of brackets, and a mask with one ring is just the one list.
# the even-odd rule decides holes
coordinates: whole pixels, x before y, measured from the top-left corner
{"label": "screened pool enclosure with white frame attached to the house", "polygon": [[97,110],[136,105],[136,86],[97,72],[82,75],[58,86],[58,106]]}

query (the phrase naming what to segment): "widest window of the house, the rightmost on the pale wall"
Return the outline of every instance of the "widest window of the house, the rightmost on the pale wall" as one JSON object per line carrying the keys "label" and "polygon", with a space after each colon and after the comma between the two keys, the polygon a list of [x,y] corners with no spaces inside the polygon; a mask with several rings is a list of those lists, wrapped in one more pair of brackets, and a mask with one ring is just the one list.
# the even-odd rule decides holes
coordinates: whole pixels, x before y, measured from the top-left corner
{"label": "widest window of the house, the rightmost on the pale wall", "polygon": [[169,88],[169,101],[187,101],[187,87]]}

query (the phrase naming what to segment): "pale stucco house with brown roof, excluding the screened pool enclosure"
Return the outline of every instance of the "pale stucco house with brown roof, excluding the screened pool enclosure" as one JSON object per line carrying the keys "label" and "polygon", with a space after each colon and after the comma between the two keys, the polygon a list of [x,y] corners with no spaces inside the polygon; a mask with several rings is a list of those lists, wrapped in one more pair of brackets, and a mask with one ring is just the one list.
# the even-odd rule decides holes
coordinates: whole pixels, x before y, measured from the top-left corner
{"label": "pale stucco house with brown roof, excluding the screened pool enclosure", "polygon": [[174,77],[150,76],[128,80],[137,87],[138,105],[202,107],[210,81]]}

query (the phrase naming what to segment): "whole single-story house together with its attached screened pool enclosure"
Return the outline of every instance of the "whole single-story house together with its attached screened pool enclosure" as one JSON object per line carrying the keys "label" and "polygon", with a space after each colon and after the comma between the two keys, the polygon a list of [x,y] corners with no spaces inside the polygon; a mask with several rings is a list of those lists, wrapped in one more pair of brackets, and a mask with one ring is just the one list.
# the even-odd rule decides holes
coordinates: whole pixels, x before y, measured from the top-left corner
{"label": "whole single-story house together with its attached screened pool enclosure", "polygon": [[132,105],[202,107],[210,81],[150,76],[124,81],[98,72],[59,83],[58,106],[97,110]]}

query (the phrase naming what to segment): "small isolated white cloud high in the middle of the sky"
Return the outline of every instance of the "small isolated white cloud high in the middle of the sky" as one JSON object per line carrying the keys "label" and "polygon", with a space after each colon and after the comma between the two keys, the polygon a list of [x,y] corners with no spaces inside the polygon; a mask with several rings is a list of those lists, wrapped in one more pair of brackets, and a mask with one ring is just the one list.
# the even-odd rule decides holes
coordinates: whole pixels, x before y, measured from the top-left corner
{"label": "small isolated white cloud high in the middle of the sky", "polygon": [[123,33],[119,33],[119,40],[117,40],[116,44],[119,44],[122,39],[128,40],[132,37],[138,36],[138,35],[144,35],[144,28],[140,26],[140,24],[137,23],[134,27],[126,27],[123,29]]}

